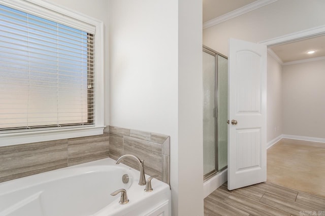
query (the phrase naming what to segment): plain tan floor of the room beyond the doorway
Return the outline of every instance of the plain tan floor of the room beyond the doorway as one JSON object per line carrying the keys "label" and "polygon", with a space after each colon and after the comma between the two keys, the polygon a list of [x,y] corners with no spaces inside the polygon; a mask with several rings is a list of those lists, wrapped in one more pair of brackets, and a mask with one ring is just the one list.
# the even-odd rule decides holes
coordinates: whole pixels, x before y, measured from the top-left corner
{"label": "plain tan floor of the room beyond the doorway", "polygon": [[281,139],[267,154],[268,182],[325,198],[325,143]]}

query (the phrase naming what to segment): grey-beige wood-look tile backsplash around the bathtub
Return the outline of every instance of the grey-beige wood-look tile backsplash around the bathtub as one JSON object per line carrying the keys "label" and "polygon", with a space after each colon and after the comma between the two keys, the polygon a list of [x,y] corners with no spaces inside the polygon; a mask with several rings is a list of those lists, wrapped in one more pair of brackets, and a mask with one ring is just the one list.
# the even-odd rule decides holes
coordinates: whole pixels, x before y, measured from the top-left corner
{"label": "grey-beige wood-look tile backsplash around the bathtub", "polygon": [[[170,137],[108,127],[103,135],[0,147],[0,182],[107,157],[133,154],[145,160],[145,172],[169,184]],[[122,161],[138,169],[134,160]]]}

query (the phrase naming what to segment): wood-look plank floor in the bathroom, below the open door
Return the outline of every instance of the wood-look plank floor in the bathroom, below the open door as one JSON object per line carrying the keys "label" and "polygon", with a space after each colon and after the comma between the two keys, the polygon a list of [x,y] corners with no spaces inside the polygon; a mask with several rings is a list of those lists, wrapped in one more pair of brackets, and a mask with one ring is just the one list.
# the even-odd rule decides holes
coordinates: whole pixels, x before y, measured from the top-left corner
{"label": "wood-look plank floor in the bathroom, below the open door", "polygon": [[227,184],[204,199],[204,215],[325,215],[325,199],[269,182],[228,191]]}

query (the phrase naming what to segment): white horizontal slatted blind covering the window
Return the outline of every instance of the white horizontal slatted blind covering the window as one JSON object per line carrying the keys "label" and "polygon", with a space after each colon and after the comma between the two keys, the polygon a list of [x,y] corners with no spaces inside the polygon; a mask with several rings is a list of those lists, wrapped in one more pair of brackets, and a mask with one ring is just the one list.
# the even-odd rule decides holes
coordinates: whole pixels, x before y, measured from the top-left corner
{"label": "white horizontal slatted blind covering the window", "polygon": [[0,5],[0,132],[95,124],[93,36]]}

